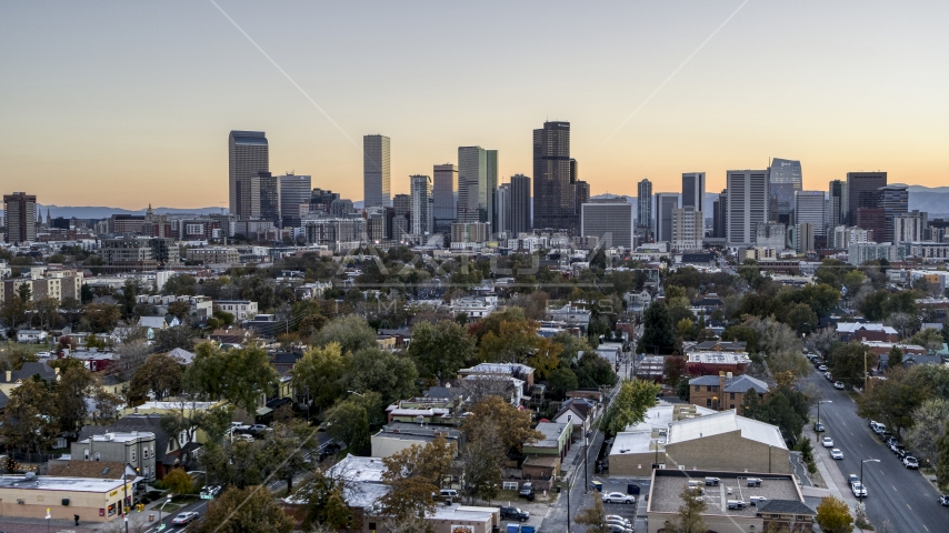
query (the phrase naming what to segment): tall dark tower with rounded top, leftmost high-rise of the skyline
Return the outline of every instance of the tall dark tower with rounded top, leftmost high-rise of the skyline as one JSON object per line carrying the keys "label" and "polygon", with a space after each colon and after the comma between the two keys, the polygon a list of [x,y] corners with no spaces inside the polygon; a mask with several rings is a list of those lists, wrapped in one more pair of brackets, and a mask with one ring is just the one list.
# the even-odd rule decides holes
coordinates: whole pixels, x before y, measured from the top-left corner
{"label": "tall dark tower with rounded top, leftmost high-rise of the skyline", "polygon": [[270,152],[262,131],[237,131],[228,135],[228,185],[230,213],[240,219],[260,215],[258,172],[270,172]]}

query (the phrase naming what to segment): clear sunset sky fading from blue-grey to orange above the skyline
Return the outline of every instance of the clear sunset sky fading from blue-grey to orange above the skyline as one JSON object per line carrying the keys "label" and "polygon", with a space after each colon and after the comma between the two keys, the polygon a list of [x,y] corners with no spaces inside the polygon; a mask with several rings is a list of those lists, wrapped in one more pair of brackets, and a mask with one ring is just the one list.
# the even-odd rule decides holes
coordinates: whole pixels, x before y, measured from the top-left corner
{"label": "clear sunset sky fading from blue-grey to orange above the skyline", "polygon": [[571,123],[592,194],[679,191],[797,159],[949,184],[949,2],[18,2],[0,0],[0,190],[39,203],[227,207],[230,130],[270,170],[362,198],[362,135],[392,193]]}

